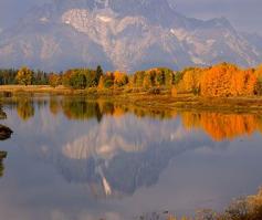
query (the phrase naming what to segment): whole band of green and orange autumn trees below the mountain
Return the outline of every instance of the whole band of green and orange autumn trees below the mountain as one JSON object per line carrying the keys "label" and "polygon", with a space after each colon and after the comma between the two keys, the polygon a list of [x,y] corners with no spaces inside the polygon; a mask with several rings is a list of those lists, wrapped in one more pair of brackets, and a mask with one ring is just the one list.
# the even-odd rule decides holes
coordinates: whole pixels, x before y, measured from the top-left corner
{"label": "whole band of green and orange autumn trees below the mountain", "polygon": [[136,93],[160,94],[169,91],[172,96],[192,94],[207,97],[234,97],[262,95],[262,65],[241,69],[230,63],[205,67],[186,67],[174,71],[155,67],[128,74],[120,71],[104,72],[93,69],[72,69],[61,73],[20,70],[0,70],[1,85],[50,85],[70,90],[122,90]]}

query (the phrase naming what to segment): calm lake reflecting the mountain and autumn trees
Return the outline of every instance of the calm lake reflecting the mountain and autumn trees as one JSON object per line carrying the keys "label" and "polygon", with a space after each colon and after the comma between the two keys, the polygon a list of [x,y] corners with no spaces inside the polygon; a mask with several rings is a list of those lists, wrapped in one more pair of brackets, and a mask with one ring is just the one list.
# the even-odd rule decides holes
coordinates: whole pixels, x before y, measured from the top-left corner
{"label": "calm lake reflecting the mountain and autumn trees", "polygon": [[[122,220],[222,210],[262,185],[262,116],[85,97],[4,98],[4,220]],[[164,217],[165,218],[165,217]]]}

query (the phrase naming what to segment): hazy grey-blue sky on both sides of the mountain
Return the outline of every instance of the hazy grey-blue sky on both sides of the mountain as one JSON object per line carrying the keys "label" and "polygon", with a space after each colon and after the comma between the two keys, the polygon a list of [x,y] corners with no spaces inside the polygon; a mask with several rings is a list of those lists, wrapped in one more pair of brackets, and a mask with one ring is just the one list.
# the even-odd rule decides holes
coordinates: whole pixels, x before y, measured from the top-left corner
{"label": "hazy grey-blue sky on both sides of the mountain", "polygon": [[[48,1],[50,0],[0,0],[0,29],[13,25],[30,8]],[[187,17],[205,20],[226,17],[240,31],[262,34],[262,0],[169,1],[178,12]]]}

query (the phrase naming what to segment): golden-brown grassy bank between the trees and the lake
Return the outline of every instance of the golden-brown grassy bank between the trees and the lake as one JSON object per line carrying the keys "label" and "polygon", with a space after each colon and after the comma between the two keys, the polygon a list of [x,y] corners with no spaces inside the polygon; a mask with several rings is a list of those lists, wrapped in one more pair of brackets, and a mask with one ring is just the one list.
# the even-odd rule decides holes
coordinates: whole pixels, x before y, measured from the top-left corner
{"label": "golden-brown grassy bank between the trees and the lake", "polygon": [[51,95],[84,95],[90,99],[106,99],[111,102],[132,103],[138,107],[151,109],[219,109],[223,112],[256,112],[262,111],[262,96],[245,97],[202,97],[195,95],[172,96],[168,90],[138,90],[138,88],[108,88],[108,90],[71,90],[64,86],[51,87],[48,85],[4,85],[0,86],[0,94],[4,96],[22,94]]}

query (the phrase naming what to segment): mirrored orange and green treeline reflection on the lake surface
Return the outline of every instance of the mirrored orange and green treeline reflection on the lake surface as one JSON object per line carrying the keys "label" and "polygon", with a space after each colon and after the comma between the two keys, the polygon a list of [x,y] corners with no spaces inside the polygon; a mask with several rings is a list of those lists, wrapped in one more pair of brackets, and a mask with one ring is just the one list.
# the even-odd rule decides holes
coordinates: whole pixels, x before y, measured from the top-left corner
{"label": "mirrored orange and green treeline reflection on the lake surface", "polygon": [[105,99],[94,102],[83,96],[50,96],[50,99],[46,97],[12,97],[6,99],[4,105],[17,108],[19,117],[23,121],[34,116],[35,107],[41,108],[49,105],[50,112],[53,115],[62,113],[69,119],[96,119],[98,123],[103,119],[103,116],[119,117],[128,113],[137,117],[156,119],[181,118],[184,127],[187,129],[202,129],[214,140],[233,139],[243,135],[251,135],[255,132],[262,133],[262,116],[259,113],[238,114],[155,109],[126,103],[112,103]]}

